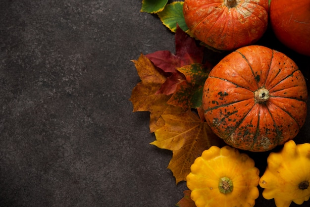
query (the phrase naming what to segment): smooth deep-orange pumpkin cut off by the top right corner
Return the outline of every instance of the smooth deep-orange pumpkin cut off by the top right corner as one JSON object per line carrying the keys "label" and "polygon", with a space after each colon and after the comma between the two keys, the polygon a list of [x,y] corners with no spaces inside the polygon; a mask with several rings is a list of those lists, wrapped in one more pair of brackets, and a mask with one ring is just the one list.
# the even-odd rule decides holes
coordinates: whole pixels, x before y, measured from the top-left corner
{"label": "smooth deep-orange pumpkin cut off by the top right corner", "polygon": [[271,0],[269,15],[276,37],[310,56],[310,0]]}

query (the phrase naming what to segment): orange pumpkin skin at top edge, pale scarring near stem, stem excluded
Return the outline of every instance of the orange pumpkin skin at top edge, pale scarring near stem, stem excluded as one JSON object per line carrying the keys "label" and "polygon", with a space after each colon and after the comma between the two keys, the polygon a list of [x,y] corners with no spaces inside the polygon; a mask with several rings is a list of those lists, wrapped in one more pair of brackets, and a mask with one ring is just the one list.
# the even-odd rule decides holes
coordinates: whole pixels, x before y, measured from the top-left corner
{"label": "orange pumpkin skin at top edge, pale scarring near stem, stem excluded", "polygon": [[217,50],[229,51],[255,43],[266,31],[268,0],[185,0],[183,13],[194,36]]}

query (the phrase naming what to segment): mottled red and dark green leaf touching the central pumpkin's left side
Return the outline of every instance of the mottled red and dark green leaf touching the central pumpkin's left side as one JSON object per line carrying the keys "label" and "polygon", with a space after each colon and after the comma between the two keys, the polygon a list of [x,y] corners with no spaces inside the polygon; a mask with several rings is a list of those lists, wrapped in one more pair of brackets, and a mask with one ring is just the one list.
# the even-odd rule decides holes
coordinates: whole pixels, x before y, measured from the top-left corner
{"label": "mottled red and dark green leaf touching the central pumpkin's left side", "polygon": [[176,86],[175,92],[167,103],[185,109],[199,108],[202,105],[203,89],[210,69],[198,63],[178,68],[185,75],[186,81]]}

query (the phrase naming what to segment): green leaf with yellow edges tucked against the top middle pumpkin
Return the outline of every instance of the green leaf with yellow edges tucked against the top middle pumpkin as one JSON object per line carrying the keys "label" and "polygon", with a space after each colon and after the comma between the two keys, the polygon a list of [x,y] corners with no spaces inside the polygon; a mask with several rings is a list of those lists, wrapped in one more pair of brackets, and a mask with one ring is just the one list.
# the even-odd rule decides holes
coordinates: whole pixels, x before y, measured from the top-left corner
{"label": "green leaf with yellow edges tucked against the top middle pumpkin", "polygon": [[183,1],[174,1],[167,4],[162,11],[157,13],[162,24],[168,27],[172,32],[176,31],[176,26],[178,24],[184,32],[189,33],[183,15],[183,3]]}

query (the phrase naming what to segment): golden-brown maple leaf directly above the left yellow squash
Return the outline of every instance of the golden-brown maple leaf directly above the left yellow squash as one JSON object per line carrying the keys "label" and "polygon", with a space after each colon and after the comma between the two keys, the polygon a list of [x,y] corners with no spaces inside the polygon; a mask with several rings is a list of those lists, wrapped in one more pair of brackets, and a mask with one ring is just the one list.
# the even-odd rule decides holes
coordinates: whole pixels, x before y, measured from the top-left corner
{"label": "golden-brown maple leaf directly above the left yellow squash", "polygon": [[165,124],[155,131],[156,140],[151,144],[172,151],[168,168],[178,183],[186,180],[190,166],[204,150],[212,145],[220,146],[222,141],[211,131],[207,122],[201,122],[197,113],[191,110],[163,114],[161,117]]}

